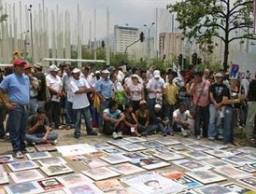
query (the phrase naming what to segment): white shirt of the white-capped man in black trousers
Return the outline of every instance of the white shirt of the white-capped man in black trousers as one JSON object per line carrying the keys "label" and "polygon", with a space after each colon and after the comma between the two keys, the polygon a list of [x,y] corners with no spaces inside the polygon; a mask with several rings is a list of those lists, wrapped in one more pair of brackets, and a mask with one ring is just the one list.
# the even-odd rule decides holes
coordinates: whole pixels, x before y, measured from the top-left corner
{"label": "white shirt of the white-capped man in black trousers", "polygon": [[[63,82],[60,76],[52,76],[49,74],[46,76],[46,85],[53,90],[59,91],[62,89]],[[61,98],[57,97],[56,95],[52,95],[51,101],[60,102]]]}

